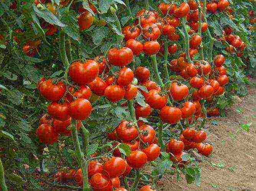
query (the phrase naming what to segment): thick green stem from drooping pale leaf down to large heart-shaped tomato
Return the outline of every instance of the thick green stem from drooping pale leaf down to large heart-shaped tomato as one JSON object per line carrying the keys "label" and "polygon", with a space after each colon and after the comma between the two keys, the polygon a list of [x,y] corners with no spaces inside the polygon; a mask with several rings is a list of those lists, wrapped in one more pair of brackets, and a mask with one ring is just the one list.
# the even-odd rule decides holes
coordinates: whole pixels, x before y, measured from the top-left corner
{"label": "thick green stem from drooping pale leaf down to large heart-shaped tomato", "polygon": [[66,68],[64,78],[67,81],[67,73],[69,70],[69,60],[67,59],[67,53],[66,53],[66,44],[65,44],[65,33],[63,31],[59,32],[59,52],[61,55],[61,61],[64,63],[64,66]]}

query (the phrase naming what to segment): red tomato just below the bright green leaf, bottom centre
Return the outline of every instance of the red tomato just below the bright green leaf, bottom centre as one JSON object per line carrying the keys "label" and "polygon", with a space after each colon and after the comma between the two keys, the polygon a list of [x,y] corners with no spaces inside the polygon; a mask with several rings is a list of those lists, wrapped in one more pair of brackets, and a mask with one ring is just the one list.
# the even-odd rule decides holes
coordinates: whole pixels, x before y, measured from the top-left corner
{"label": "red tomato just below the bright green leaf, bottom centre", "polygon": [[132,151],[126,158],[128,165],[132,168],[141,168],[148,162],[147,155],[142,151]]}

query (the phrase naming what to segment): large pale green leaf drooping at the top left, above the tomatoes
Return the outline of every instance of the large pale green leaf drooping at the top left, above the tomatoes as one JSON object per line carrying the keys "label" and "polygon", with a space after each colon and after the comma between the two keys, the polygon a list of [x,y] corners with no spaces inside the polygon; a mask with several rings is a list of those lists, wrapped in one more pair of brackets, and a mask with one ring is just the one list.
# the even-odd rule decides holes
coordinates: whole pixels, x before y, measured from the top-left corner
{"label": "large pale green leaf drooping at the top left, above the tomatoes", "polygon": [[36,15],[43,18],[46,22],[50,24],[55,24],[57,26],[64,27],[66,24],[62,23],[51,11],[49,11],[47,8],[44,10],[39,10],[36,5],[33,3],[33,9],[36,12]]}

